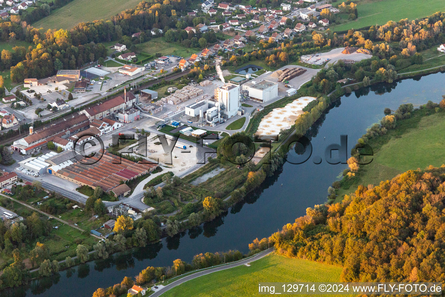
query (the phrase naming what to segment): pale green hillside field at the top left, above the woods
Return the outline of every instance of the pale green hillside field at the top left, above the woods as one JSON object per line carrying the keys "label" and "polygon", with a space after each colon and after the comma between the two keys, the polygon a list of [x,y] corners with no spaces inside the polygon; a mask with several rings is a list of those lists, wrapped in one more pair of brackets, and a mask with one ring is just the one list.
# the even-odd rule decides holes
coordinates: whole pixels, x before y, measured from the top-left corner
{"label": "pale green hillside field at the top left, above the woods", "polygon": [[36,28],[70,29],[80,22],[108,19],[121,11],[135,7],[140,0],[73,0],[62,8],[51,12],[51,15],[32,24]]}

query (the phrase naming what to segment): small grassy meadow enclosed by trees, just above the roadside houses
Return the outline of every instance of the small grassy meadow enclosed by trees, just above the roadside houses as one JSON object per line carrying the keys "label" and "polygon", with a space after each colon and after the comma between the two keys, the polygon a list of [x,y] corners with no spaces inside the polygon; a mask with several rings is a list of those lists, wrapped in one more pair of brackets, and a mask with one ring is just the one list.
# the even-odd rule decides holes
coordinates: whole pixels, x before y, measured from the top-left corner
{"label": "small grassy meadow enclosed by trees, just above the roadside houses", "polygon": [[153,56],[155,53],[161,53],[163,56],[177,55],[179,57],[189,57],[192,53],[200,50],[197,48],[187,49],[177,43],[167,42],[164,37],[153,38],[150,41],[136,45],[136,47],[139,52],[148,53]]}

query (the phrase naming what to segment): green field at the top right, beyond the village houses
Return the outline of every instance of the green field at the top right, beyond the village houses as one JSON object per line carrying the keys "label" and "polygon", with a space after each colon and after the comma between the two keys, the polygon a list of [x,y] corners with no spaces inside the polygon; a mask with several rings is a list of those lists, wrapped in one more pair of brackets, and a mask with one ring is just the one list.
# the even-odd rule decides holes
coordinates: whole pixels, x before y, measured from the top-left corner
{"label": "green field at the top right, beyond the village houses", "polygon": [[[434,12],[445,11],[443,0],[363,0],[353,1],[357,4],[358,17],[343,24],[332,27],[335,31],[362,28],[375,24],[385,24],[388,20],[399,21],[429,16]],[[338,2],[339,4],[341,2]]]}

